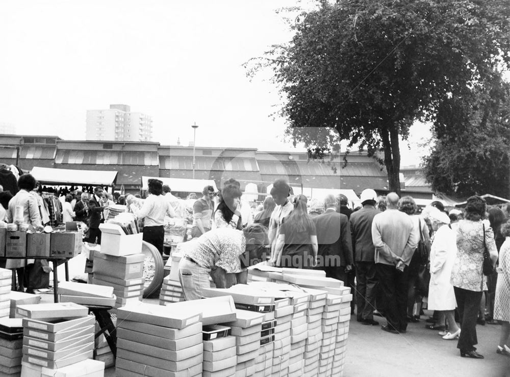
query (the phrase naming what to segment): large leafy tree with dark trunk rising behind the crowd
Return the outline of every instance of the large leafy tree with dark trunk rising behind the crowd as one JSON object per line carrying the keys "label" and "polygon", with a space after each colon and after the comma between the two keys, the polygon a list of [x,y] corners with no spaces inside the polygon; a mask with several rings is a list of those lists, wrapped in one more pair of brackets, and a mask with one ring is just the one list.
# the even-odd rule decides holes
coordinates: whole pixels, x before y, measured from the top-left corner
{"label": "large leafy tree with dark trunk rising behind the crowd", "polygon": [[399,192],[399,137],[415,120],[435,119],[451,93],[462,96],[508,66],[509,16],[506,0],[323,0],[296,18],[290,43],[254,60],[248,74],[273,69],[294,142],[332,153],[340,140],[380,150],[389,189]]}

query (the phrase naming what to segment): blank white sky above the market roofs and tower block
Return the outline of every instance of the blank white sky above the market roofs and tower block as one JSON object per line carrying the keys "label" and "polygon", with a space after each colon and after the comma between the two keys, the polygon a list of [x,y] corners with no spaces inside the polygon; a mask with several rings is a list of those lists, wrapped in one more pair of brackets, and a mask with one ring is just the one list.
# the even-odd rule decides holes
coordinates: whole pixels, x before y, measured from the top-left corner
{"label": "blank white sky above the market roofs and tower block", "polygon": [[242,64],[292,33],[292,0],[0,0],[0,123],[17,134],[85,139],[88,109],[126,104],[153,140],[294,149],[269,74]]}

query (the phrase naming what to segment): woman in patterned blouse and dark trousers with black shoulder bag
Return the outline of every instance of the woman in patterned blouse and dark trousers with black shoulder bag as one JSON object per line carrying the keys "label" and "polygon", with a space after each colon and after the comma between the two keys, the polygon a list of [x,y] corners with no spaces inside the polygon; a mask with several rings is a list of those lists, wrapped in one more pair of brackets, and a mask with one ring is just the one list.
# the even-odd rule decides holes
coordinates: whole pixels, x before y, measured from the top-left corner
{"label": "woman in patterned blouse and dark trousers with black shoulder bag", "polygon": [[[471,196],[466,203],[466,218],[458,222],[457,256],[451,274],[458,313],[461,317],[461,334],[457,348],[461,357],[483,359],[476,352],[476,318],[481,295],[486,286],[482,273],[484,244],[493,265],[498,258],[494,232],[488,220],[482,220],[486,212],[485,199]],[[484,241],[485,240],[485,241]]]}

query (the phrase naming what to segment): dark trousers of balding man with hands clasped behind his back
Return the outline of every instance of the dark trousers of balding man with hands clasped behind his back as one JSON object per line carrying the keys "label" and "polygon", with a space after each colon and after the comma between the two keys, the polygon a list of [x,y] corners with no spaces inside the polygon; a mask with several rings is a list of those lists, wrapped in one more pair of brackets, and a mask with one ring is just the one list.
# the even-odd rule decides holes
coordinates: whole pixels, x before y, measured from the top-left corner
{"label": "dark trousers of balding man with hands clasped behind his back", "polygon": [[400,272],[394,265],[376,263],[379,287],[384,297],[384,310],[390,329],[407,329],[407,285],[409,268]]}

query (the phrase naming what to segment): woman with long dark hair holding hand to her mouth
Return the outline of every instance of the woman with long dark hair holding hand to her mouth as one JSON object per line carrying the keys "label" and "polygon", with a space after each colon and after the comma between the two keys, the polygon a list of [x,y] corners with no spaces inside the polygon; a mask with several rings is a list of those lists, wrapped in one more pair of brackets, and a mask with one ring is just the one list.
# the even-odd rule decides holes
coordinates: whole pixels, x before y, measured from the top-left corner
{"label": "woman with long dark hair holding hand to her mouth", "polygon": [[243,229],[241,213],[238,210],[242,194],[237,186],[227,185],[223,187],[220,203],[213,214],[216,228]]}

